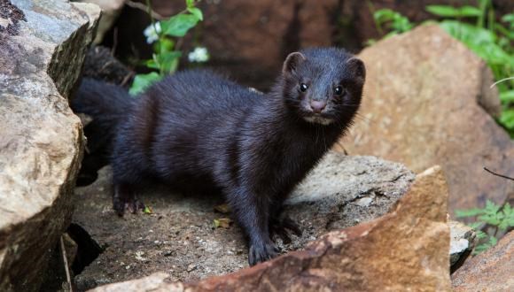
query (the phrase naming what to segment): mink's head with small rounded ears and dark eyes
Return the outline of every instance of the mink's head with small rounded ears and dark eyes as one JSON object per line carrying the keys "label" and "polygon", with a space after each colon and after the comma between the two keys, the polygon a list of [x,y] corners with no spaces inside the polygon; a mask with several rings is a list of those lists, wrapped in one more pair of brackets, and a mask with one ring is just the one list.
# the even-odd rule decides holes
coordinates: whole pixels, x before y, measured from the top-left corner
{"label": "mink's head with small rounded ears and dark eyes", "polygon": [[366,69],[362,61],[336,48],[289,54],[282,70],[284,102],[301,119],[345,125],[361,104]]}

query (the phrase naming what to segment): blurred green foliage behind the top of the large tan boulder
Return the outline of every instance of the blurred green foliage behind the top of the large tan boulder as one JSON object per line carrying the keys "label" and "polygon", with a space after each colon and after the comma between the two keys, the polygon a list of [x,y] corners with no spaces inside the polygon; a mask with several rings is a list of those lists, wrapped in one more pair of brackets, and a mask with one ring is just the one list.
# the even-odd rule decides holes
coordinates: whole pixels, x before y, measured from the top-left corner
{"label": "blurred green foliage behind the top of the large tan boulder", "polygon": [[[463,42],[487,62],[495,74],[500,92],[502,113],[498,122],[514,138],[514,13],[496,22],[491,0],[479,0],[478,6],[428,5],[426,11],[440,18],[439,25],[449,35]],[[414,25],[398,12],[388,9],[373,13],[378,30],[388,24],[384,37],[409,31]],[[372,43],[374,42],[371,40]]]}

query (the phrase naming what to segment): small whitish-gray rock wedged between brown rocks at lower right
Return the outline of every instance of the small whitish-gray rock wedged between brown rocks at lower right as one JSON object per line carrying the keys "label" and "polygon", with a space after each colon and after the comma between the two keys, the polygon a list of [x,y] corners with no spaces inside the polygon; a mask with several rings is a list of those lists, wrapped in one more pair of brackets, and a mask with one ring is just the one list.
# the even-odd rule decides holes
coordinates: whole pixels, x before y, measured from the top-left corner
{"label": "small whitish-gray rock wedged between brown rocks at lower right", "polygon": [[468,226],[457,221],[448,221],[450,228],[450,265],[452,270],[462,265],[477,244],[477,234]]}

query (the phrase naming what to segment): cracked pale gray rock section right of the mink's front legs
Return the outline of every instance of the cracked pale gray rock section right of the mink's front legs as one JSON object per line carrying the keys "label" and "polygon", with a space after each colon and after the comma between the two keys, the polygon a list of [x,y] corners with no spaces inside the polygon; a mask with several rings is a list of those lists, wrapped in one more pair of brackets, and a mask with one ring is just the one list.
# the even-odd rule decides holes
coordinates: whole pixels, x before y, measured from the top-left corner
{"label": "cracked pale gray rock section right of the mink's front legs", "polygon": [[322,232],[350,227],[385,214],[414,178],[398,163],[330,152],[286,201],[286,210],[325,227]]}

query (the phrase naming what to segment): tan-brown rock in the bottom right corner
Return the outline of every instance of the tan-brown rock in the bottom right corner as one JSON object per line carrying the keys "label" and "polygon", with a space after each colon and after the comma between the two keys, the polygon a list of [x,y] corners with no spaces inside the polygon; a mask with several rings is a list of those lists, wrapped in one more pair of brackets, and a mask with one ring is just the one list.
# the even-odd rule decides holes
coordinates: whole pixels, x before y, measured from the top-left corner
{"label": "tan-brown rock in the bottom right corner", "polygon": [[452,275],[454,291],[513,291],[514,232],[506,234],[498,244],[466,261]]}

